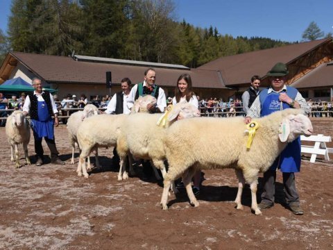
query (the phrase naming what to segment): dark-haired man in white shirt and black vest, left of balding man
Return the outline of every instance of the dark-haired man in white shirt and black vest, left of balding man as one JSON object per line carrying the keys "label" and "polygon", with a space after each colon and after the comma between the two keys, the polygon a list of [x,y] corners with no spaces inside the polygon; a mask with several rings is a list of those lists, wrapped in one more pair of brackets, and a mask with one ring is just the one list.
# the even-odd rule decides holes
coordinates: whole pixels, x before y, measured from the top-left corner
{"label": "dark-haired man in white shirt and black vest, left of balding man", "polygon": [[130,96],[130,87],[132,82],[129,78],[123,78],[121,80],[121,91],[113,95],[112,99],[106,107],[106,114],[129,114],[130,109],[127,106],[127,102]]}

